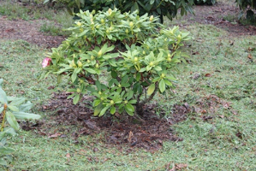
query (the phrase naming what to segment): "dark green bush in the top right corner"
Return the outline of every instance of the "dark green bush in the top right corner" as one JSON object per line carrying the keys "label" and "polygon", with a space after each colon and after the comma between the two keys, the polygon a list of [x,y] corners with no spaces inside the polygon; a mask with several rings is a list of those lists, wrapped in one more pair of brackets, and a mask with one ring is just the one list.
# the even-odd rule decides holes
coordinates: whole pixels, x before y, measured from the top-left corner
{"label": "dark green bush in the top right corner", "polygon": [[239,8],[241,9],[241,15],[239,16],[239,18],[241,18],[241,16],[246,11],[247,20],[256,21],[256,15],[253,12],[253,9],[256,9],[255,0],[235,0],[235,3],[237,3]]}

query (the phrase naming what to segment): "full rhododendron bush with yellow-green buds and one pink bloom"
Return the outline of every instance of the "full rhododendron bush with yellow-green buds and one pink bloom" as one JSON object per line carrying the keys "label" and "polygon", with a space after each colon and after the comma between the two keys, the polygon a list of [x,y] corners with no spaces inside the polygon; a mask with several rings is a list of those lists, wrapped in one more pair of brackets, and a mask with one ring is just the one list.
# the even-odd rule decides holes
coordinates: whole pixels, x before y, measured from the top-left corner
{"label": "full rhododendron bush with yellow-green buds and one pink bloom", "polygon": [[[164,29],[158,18],[122,14],[117,9],[93,15],[80,11],[73,33],[43,62],[45,73],[67,75],[73,102],[88,91],[95,97],[94,115],[143,113],[154,95],[174,87],[173,71],[182,56],[182,42],[190,39],[178,27]],[[184,61],[184,60],[183,60]]]}

